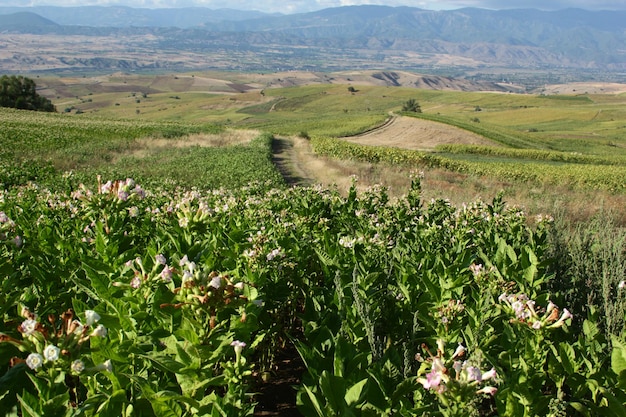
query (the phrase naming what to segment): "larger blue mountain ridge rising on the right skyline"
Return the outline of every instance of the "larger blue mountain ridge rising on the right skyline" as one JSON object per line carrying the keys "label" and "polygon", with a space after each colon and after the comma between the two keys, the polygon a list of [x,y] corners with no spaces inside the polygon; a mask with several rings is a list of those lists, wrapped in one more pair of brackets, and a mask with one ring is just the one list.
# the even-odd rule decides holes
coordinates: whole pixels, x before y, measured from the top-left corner
{"label": "larger blue mountain ridge rising on the right skyline", "polygon": [[[373,45],[424,53],[455,53],[509,65],[626,64],[626,12],[567,9],[432,11],[346,6],[261,19],[207,22],[214,32],[271,33],[317,45]],[[466,51],[466,52],[463,52]]]}

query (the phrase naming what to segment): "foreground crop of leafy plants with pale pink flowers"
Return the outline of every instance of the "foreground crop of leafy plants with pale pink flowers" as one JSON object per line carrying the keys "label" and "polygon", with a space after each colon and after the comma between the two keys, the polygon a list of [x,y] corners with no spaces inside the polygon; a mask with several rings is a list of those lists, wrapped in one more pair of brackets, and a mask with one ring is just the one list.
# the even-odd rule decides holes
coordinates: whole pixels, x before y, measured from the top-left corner
{"label": "foreground crop of leafy plants with pale pink flowers", "polygon": [[293,343],[307,417],[621,415],[626,348],[548,291],[550,227],[498,199],[423,205],[419,182],[396,202],[130,179],[6,191],[0,406],[250,415]]}

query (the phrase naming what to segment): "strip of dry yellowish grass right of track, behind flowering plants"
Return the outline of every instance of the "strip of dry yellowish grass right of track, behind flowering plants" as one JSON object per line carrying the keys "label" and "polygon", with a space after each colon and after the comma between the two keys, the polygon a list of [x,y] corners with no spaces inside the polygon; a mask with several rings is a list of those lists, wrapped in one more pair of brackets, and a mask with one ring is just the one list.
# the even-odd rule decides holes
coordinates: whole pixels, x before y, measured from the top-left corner
{"label": "strip of dry yellowish grass right of track, behind flowering plants", "polygon": [[[326,187],[337,187],[346,193],[356,177],[357,189],[382,185],[388,189],[392,199],[402,197],[409,190],[410,176],[414,169],[343,161],[319,157],[313,153],[309,142],[292,138],[293,163],[311,182]],[[572,224],[584,223],[593,217],[608,214],[619,226],[626,227],[626,195],[614,195],[604,191],[576,191],[555,188],[553,185],[529,185],[502,182],[492,178],[476,177],[442,169],[427,169],[423,172],[423,201],[446,199],[460,206],[476,200],[490,202],[500,192],[509,206],[519,207],[530,219],[537,215],[563,217]]]}

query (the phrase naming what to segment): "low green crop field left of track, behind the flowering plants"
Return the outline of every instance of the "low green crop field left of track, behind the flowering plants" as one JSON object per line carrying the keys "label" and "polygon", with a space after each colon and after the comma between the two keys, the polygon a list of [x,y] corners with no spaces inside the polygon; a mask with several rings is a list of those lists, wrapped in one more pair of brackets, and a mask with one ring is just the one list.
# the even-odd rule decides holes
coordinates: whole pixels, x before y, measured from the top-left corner
{"label": "low green crop field left of track, behind the flowering plants", "polygon": [[[0,183],[5,187],[33,180],[63,183],[67,171],[86,183],[99,174],[148,184],[167,178],[201,188],[242,186],[259,178],[275,186],[283,183],[271,162],[271,135],[247,145],[202,147],[185,142],[189,135],[219,134],[224,128],[11,109],[0,109],[0,120]],[[158,139],[177,147],[151,146]]]}

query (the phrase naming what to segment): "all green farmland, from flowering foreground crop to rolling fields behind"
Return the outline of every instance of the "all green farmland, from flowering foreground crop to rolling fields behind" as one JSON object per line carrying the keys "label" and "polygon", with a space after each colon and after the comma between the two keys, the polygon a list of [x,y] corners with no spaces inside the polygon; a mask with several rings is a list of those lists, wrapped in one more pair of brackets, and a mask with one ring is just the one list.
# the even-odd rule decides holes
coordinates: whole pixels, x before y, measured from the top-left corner
{"label": "all green farmland, from flowering foreground crop to rolling fields behind", "polygon": [[[623,415],[620,213],[507,201],[623,201],[623,93],[276,79],[42,79],[60,114],[0,109],[0,409],[262,415],[292,355],[305,416]],[[385,146],[400,121],[480,141]],[[277,143],[382,185],[287,187]],[[485,200],[428,202],[445,178]]]}

